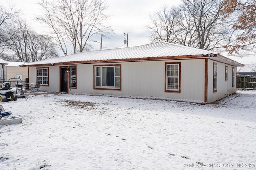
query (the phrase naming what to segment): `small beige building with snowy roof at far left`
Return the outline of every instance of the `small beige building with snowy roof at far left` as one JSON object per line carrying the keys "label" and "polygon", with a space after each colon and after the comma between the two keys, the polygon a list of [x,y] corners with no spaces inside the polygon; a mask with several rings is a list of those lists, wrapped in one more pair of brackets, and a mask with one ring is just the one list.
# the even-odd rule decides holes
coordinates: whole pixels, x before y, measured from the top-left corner
{"label": "small beige building with snowy roof at far left", "polygon": [[25,82],[26,78],[28,78],[28,68],[20,67],[24,63],[4,61],[2,59],[0,59],[0,63],[2,65],[0,67],[0,82],[15,81],[16,78]]}

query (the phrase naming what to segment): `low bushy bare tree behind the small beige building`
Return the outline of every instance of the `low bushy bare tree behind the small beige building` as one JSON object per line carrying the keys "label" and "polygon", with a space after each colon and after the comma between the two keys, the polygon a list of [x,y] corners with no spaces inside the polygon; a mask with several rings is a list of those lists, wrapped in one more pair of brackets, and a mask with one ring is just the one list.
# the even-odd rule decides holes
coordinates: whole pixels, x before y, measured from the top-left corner
{"label": "low bushy bare tree behind the small beige building", "polygon": [[8,35],[15,35],[15,38],[7,41],[6,47],[18,57],[20,62],[58,57],[55,46],[50,41],[51,38],[32,31],[25,21],[14,22]]}

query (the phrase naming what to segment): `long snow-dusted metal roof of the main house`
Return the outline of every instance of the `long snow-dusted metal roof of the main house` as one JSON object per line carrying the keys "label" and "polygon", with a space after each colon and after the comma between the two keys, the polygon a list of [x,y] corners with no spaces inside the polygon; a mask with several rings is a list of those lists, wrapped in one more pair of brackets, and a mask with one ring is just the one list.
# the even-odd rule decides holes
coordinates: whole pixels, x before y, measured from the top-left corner
{"label": "long snow-dusted metal roof of the main house", "polygon": [[63,57],[57,57],[44,61],[23,64],[22,66],[48,66],[62,64],[80,63],[106,63],[106,62],[127,62],[127,61],[148,61],[166,59],[186,59],[208,57],[212,54],[212,59],[228,62],[236,66],[243,66],[236,61],[228,59],[212,51],[176,45],[167,42],[156,42],[146,45],[123,47],[115,49],[105,49],[98,51],[86,51]]}

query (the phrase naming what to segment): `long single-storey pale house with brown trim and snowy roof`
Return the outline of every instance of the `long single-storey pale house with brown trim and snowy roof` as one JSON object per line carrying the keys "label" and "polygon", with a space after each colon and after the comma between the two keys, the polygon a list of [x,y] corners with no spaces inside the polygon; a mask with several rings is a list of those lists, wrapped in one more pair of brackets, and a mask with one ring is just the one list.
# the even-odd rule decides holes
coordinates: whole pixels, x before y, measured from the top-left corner
{"label": "long single-storey pale house with brown trim and snowy roof", "polygon": [[23,64],[40,90],[148,96],[211,103],[236,92],[236,61],[212,51],[156,42]]}

